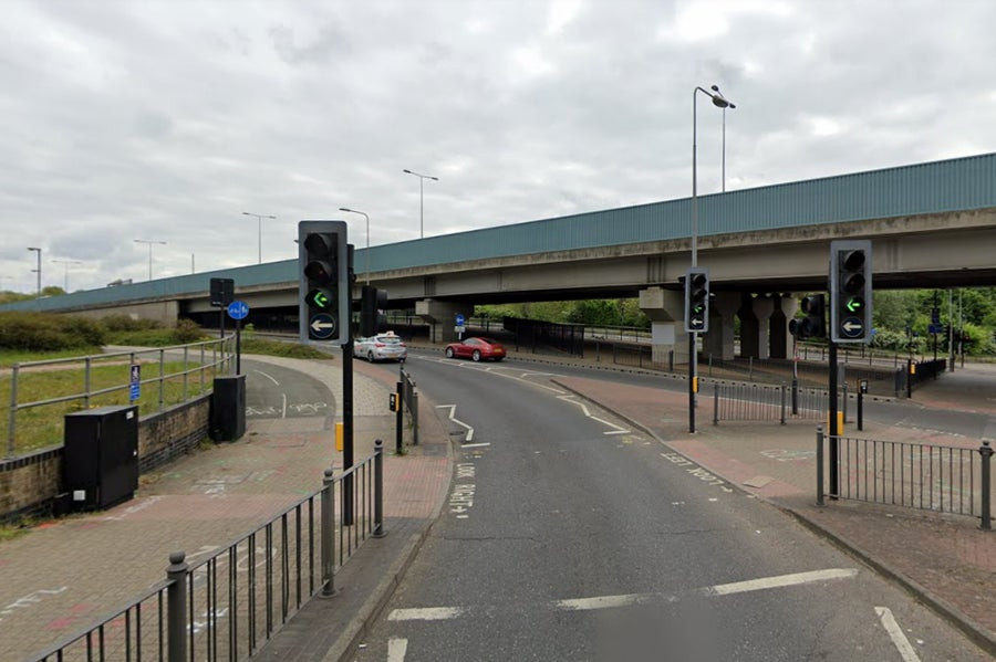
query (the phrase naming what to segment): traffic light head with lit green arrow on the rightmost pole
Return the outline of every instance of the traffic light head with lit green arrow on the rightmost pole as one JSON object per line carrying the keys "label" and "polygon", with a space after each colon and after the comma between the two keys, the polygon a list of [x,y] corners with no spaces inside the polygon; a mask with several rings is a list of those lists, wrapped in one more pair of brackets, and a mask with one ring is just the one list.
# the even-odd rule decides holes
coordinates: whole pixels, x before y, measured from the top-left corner
{"label": "traffic light head with lit green arrow on the rightmost pole", "polygon": [[869,343],[872,337],[871,241],[830,242],[830,339]]}

